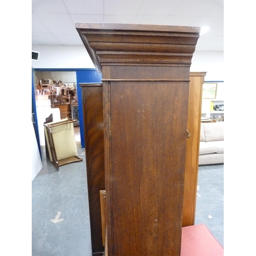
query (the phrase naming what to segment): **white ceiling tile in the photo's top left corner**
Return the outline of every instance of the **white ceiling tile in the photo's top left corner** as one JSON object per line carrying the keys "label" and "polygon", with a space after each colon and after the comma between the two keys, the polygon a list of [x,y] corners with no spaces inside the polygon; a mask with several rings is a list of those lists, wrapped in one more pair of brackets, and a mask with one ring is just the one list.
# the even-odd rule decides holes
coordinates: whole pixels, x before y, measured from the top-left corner
{"label": "white ceiling tile in the photo's top left corner", "polygon": [[33,12],[68,13],[61,0],[32,0]]}

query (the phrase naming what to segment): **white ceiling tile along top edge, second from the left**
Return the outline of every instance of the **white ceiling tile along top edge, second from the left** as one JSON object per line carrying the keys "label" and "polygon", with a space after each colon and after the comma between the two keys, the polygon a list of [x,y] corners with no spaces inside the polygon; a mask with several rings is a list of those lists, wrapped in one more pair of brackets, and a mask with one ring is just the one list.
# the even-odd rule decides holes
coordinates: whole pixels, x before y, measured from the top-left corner
{"label": "white ceiling tile along top edge, second from the left", "polygon": [[63,0],[70,14],[103,14],[103,0]]}

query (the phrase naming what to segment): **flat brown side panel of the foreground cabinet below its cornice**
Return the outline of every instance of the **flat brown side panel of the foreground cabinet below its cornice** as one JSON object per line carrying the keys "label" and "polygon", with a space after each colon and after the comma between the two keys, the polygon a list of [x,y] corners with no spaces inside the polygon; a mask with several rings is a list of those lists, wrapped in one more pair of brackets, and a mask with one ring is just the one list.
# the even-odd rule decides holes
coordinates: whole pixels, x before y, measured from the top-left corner
{"label": "flat brown side panel of the foreground cabinet below its cornice", "polygon": [[113,255],[180,255],[188,82],[112,81],[110,95]]}

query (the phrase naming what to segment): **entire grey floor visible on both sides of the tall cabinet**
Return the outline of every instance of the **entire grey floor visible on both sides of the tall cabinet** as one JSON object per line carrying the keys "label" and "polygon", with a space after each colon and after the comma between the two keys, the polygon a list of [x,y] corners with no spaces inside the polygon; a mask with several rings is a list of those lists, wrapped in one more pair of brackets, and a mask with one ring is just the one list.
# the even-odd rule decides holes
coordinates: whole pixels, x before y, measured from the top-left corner
{"label": "entire grey floor visible on both sides of the tall cabinet", "polygon": [[[85,150],[75,127],[82,162],[59,167],[46,160],[32,181],[32,256],[91,256]],[[201,165],[195,224],[205,224],[224,246],[224,164]]]}

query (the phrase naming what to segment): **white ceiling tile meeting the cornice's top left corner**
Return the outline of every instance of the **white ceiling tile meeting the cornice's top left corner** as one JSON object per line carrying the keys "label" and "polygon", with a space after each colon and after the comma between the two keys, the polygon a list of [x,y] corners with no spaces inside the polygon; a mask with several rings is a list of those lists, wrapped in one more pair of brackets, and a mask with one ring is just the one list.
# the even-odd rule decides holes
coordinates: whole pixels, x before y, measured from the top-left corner
{"label": "white ceiling tile meeting the cornice's top left corner", "polygon": [[75,24],[69,14],[41,12],[35,14],[52,33],[76,34]]}

